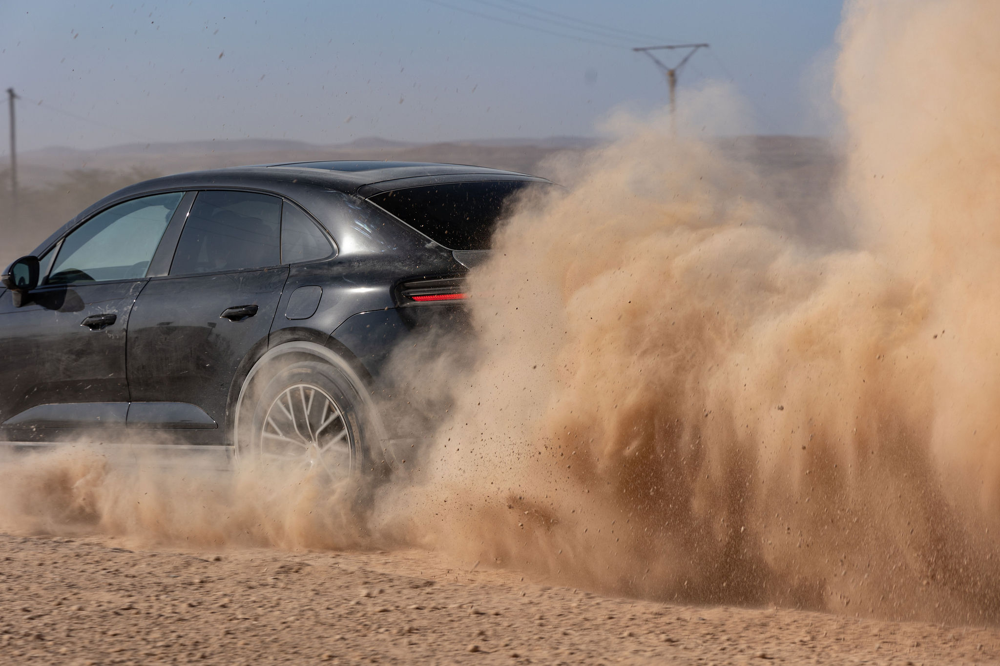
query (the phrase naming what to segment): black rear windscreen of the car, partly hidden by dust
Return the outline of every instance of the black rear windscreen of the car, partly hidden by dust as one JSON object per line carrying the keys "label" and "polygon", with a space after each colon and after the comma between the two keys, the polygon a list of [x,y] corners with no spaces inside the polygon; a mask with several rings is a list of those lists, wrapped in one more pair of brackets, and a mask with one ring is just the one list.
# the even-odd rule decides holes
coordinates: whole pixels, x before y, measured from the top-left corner
{"label": "black rear windscreen of the car, partly hidden by dust", "polygon": [[511,195],[539,184],[525,181],[449,183],[384,192],[370,198],[451,250],[489,250]]}

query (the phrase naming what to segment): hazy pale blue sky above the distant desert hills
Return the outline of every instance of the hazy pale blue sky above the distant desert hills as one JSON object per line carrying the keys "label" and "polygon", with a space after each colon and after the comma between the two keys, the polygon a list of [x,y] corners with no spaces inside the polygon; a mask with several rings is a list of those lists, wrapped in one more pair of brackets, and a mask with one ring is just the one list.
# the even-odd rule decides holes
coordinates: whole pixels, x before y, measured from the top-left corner
{"label": "hazy pale blue sky above the distant desert hills", "polygon": [[838,0],[3,0],[0,90],[25,98],[20,150],[593,135],[612,109],[665,103],[662,76],[628,47],[704,41],[682,103],[684,88],[731,82],[756,131],[810,134],[823,126],[806,80],[840,12]]}

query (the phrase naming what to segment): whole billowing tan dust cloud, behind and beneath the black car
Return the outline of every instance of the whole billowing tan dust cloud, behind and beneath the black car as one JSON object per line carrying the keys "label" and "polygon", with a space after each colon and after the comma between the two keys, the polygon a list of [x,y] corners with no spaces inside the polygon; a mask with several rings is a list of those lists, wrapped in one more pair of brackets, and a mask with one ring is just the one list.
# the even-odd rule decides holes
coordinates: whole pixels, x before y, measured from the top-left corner
{"label": "whole billowing tan dust cloud, behind and beneath the black car", "polygon": [[499,232],[474,369],[434,382],[434,445],[363,509],[295,474],[63,452],[5,463],[0,525],[416,544],[655,599],[997,622],[998,14],[845,8],[847,172],[816,219],[850,248],[696,128],[619,120]]}

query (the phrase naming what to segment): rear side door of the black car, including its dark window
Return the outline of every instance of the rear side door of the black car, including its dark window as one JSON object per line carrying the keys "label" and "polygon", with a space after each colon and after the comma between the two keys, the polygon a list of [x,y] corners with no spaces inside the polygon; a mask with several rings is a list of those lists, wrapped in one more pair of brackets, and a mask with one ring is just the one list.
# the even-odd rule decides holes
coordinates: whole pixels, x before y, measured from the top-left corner
{"label": "rear side door of the black car, including its dark window", "polygon": [[262,354],[288,268],[281,199],[199,192],[169,275],[151,278],[128,328],[129,424],[175,441],[225,443],[229,391]]}

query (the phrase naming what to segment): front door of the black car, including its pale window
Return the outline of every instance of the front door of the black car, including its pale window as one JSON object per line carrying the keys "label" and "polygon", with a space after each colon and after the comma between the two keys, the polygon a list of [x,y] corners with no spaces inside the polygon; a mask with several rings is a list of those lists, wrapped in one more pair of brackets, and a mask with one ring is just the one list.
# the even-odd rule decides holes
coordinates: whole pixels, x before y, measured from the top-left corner
{"label": "front door of the black car, including its pale window", "polygon": [[20,307],[0,298],[0,436],[104,438],[90,428],[125,424],[129,314],[183,197],[99,212],[41,258],[41,286]]}

